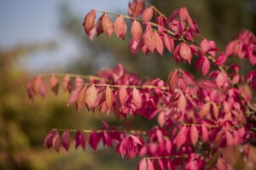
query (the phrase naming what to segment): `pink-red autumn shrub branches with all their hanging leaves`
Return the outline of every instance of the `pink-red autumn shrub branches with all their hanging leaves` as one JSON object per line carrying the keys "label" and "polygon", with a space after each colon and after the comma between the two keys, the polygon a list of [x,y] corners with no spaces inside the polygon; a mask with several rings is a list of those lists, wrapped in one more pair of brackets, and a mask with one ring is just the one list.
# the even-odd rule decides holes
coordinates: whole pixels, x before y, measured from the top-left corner
{"label": "pink-red autumn shrub branches with all their hanging leaves", "polygon": [[[96,14],[102,16],[96,20]],[[130,38],[131,54],[162,55],[166,50],[176,62],[195,65],[203,77],[195,80],[191,73],[177,68],[166,80],[145,80],[120,64],[96,76],[38,75],[27,87],[31,99],[37,95],[44,98],[48,77],[50,90],[58,94],[61,83],[64,93],[70,93],[67,105],[76,105],[78,111],[86,108],[116,118],[139,115],[145,121],[155,118],[158,122],[148,131],[128,125],[113,127],[107,122],[97,130],[53,129],[44,147],[68,150],[73,136],[75,148],[85,150],[89,144],[97,150],[102,143],[116,147],[123,158],[141,156],[138,170],[255,168],[256,71],[243,76],[241,65],[226,62],[239,57],[247,59],[247,65],[256,65],[253,33],[242,30],[221,51],[200,34],[187,8],[166,17],[154,6],[133,0],[128,14],[92,9],[84,18],[84,31],[92,41],[102,33],[111,37],[113,32],[122,39]],[[131,22],[131,28],[126,22]],[[126,36],[128,31],[131,37]]]}

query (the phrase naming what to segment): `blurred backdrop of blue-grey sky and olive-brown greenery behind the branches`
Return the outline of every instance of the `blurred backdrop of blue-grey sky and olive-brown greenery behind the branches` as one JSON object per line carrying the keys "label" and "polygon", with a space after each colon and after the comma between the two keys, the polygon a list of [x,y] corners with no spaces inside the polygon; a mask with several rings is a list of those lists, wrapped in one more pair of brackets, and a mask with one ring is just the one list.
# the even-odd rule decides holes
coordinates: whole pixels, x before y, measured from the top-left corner
{"label": "blurred backdrop of blue-grey sky and olive-brown greenery behind the branches", "polygon": [[[128,0],[0,0],[0,169],[136,169],[139,158],[122,160],[115,150],[86,151],[41,150],[50,129],[99,128],[102,120],[121,124],[110,116],[76,112],[67,107],[68,94],[50,93],[34,101],[26,95],[26,84],[38,73],[69,72],[96,74],[102,68],[121,63],[140,77],[160,77],[177,67],[195,73],[192,65],[176,64],[172,54],[137,56],[114,35],[98,37],[94,42],[84,35],[84,15],[91,8],[126,14]],[[217,42],[224,50],[242,28],[256,32],[254,0],[158,0],[152,1],[169,16],[174,9],[187,7],[201,34]],[[100,14],[97,14],[99,17]],[[128,20],[127,20],[128,21]],[[127,22],[127,24],[129,21]],[[131,24],[131,23],[129,23]],[[236,60],[236,59],[235,59]],[[230,60],[234,62],[234,59]],[[245,63],[242,61],[242,64]],[[253,69],[247,65],[244,72]],[[147,127],[142,118],[127,121]],[[139,122],[139,123],[138,123]],[[137,126],[138,127],[138,126]]]}

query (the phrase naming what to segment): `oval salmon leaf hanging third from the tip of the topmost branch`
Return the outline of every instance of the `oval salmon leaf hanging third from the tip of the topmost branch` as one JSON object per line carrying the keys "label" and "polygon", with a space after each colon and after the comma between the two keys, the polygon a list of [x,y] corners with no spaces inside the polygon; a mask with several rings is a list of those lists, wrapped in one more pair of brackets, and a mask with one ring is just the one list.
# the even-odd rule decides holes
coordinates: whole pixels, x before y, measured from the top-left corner
{"label": "oval salmon leaf hanging third from the tip of the topmost branch", "polygon": [[119,15],[113,23],[113,31],[117,37],[125,39],[127,25],[122,15]]}

